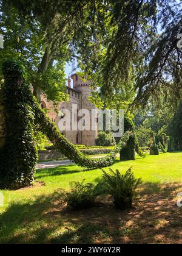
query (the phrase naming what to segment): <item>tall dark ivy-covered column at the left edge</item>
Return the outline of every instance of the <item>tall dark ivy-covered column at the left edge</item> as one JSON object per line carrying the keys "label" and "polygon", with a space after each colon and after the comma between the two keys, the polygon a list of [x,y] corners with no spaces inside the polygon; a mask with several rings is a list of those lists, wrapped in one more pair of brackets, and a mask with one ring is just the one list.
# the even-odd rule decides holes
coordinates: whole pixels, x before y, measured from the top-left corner
{"label": "tall dark ivy-covered column at the left edge", "polygon": [[37,153],[33,140],[31,93],[25,84],[25,72],[18,60],[7,60],[2,66],[4,85],[2,104],[5,116],[5,144],[0,155],[0,188],[18,189],[32,185]]}

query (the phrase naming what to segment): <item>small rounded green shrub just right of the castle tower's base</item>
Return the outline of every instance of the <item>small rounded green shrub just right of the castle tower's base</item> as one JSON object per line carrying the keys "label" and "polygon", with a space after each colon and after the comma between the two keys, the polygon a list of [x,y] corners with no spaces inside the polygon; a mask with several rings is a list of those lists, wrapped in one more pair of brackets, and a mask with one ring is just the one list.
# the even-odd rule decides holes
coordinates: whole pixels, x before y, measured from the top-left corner
{"label": "small rounded green shrub just right of the castle tower's base", "polygon": [[96,146],[115,146],[116,141],[113,137],[113,133],[99,132],[98,137],[95,140]]}

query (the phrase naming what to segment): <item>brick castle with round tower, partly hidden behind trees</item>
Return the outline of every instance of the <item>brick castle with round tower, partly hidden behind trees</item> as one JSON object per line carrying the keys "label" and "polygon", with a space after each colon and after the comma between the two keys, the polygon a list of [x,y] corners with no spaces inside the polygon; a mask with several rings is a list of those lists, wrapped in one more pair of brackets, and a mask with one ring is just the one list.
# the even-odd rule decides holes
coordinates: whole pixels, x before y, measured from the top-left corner
{"label": "brick castle with round tower, partly hidden behind trees", "polygon": [[[91,82],[86,79],[86,77],[81,79],[79,74],[73,74],[71,76],[73,80],[73,88],[72,88],[72,80],[69,77],[68,85],[66,86],[67,93],[69,94],[69,102],[59,102],[56,110],[60,113],[61,110],[67,109],[71,114],[71,126],[72,121],[75,118],[74,122],[78,123],[79,117],[75,115],[72,111],[72,104],[76,104],[78,107],[78,112],[81,109],[89,110],[90,112],[90,129],[89,130],[64,130],[61,131],[62,134],[66,136],[66,138],[72,142],[73,144],[84,144],[86,146],[95,146],[95,139],[98,135],[98,130],[92,130],[91,123],[93,122],[93,116],[91,112],[93,109],[96,110],[95,105],[89,101],[89,96],[91,95],[90,84]],[[48,102],[44,96],[42,96],[41,108],[47,108],[47,115],[49,118],[58,126],[59,121],[61,119],[58,112],[55,111],[55,107],[53,106],[53,102]],[[92,120],[91,120],[92,119]],[[94,117],[94,122],[97,123],[97,116]],[[97,124],[96,124],[97,127]]]}

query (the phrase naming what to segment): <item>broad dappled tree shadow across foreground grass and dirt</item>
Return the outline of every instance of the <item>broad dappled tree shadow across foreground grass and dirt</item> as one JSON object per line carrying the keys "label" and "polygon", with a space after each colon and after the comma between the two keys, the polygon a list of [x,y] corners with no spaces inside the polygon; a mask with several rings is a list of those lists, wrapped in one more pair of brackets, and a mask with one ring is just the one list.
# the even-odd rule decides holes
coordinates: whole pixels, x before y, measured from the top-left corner
{"label": "broad dappled tree shadow across foreground grass and dirt", "polygon": [[[132,210],[116,210],[112,198],[73,212],[59,193],[18,202],[0,215],[0,243],[180,243],[181,184],[146,183]],[[163,193],[164,192],[164,193]]]}

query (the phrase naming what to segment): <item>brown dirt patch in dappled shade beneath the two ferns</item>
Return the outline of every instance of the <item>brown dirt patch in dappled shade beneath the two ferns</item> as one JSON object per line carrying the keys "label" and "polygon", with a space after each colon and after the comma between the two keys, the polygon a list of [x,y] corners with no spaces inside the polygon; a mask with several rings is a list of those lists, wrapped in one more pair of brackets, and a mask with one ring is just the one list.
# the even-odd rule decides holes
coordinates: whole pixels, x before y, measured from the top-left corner
{"label": "brown dirt patch in dappled shade beneath the two ferns", "polygon": [[56,201],[45,216],[64,219],[64,232],[50,243],[182,243],[182,207],[177,207],[182,184],[157,186],[158,193],[151,193],[150,184],[144,185],[132,210],[125,212],[116,210],[109,196],[79,212]]}

